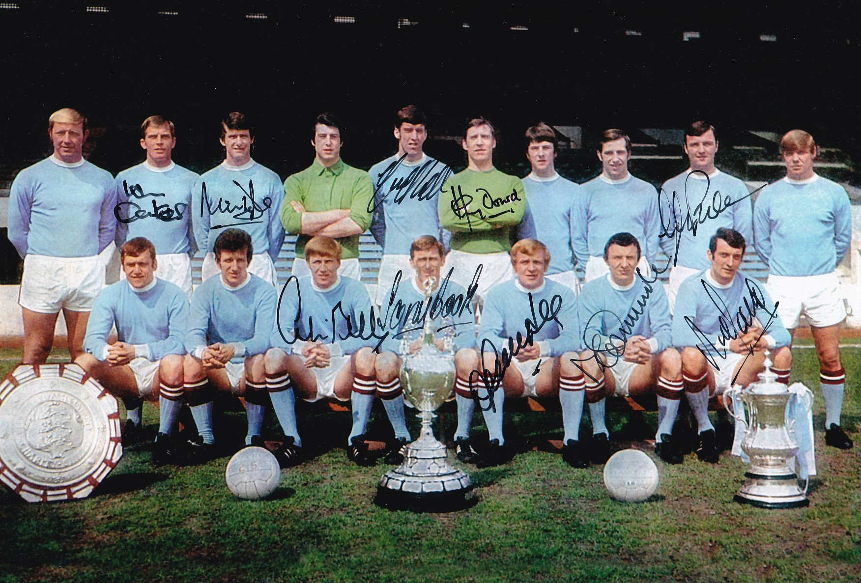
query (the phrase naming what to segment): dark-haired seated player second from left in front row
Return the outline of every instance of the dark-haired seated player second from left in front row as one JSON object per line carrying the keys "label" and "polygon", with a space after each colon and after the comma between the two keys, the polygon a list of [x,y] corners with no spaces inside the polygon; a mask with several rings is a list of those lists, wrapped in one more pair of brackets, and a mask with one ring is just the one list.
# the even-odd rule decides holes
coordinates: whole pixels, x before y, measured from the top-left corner
{"label": "dark-haired seated player second from left in front row", "polygon": [[215,452],[216,390],[245,396],[245,445],[263,445],[260,432],[267,404],[263,354],[269,348],[277,301],[275,287],[248,271],[254,247],[245,230],[221,231],[214,254],[221,273],[204,281],[191,297],[183,367],[185,398],[200,433],[191,451],[201,461]]}

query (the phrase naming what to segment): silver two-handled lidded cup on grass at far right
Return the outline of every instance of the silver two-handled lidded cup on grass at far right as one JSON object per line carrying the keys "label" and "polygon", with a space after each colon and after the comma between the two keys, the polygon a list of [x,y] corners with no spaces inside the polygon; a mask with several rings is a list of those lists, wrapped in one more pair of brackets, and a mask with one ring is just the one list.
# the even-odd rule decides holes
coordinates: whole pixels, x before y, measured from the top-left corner
{"label": "silver two-handled lidded cup on grass at far right", "polygon": [[[786,424],[792,392],[785,384],[777,383],[767,352],[763,365],[765,371],[759,373],[759,382],[746,389],[735,386],[725,393],[725,407],[745,427],[741,449],[750,457],[750,468],[745,472],[747,482],[735,494],[735,501],[760,508],[808,506],[807,494],[790,465],[798,453],[798,445],[790,435],[794,421],[790,420],[790,427]],[[802,389],[809,408],[813,394],[806,387]],[[734,396],[744,403],[746,417],[730,407]]]}

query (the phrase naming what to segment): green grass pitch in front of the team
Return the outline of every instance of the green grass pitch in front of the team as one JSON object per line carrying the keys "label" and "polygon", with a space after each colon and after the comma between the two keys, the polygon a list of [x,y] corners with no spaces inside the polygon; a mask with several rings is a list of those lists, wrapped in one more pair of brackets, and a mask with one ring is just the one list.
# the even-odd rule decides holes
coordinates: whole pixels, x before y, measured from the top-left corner
{"label": "green grass pitch in front of the team", "polygon": [[[0,373],[17,354],[0,353],[7,358]],[[511,463],[466,468],[478,504],[452,513],[391,512],[372,503],[387,466],[357,468],[340,449],[350,414],[301,408],[313,458],[285,470],[269,500],[229,493],[228,457],[154,469],[146,446],[127,449],[88,500],[30,505],[3,488],[0,581],[858,581],[861,350],[843,351],[843,424],[858,444],[847,452],[823,443],[815,351],[794,356],[792,382],[815,394],[819,474],[808,508],[735,503],[745,465],[728,452],[715,465],[693,454],[678,466],[659,461],[661,482],[650,500],[616,502],[602,467],[571,469],[557,453],[533,447],[561,439],[561,418],[530,412],[507,415],[506,437],[520,450]],[[154,431],[158,412],[144,411]],[[612,427],[623,417],[612,414]],[[655,414],[646,420],[654,427]],[[446,415],[449,439],[454,424]],[[371,433],[384,439],[386,427],[375,414]],[[417,428],[411,425],[413,435]],[[238,446],[245,415],[227,412],[218,430]],[[474,435],[486,436],[480,414]],[[646,443],[633,445],[653,455]]]}

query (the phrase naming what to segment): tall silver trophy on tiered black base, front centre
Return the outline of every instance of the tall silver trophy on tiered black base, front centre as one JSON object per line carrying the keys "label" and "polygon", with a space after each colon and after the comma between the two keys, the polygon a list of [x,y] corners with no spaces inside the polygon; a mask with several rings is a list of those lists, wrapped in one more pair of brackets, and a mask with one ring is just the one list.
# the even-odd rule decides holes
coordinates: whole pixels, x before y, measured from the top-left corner
{"label": "tall silver trophy on tiered black base, front centre", "polygon": [[[425,282],[424,293],[430,297],[434,279]],[[433,435],[431,420],[449,396],[455,380],[455,357],[446,341],[441,352],[434,344],[433,323],[425,318],[423,341],[418,352],[406,350],[400,383],[406,400],[418,409],[422,421],[418,439],[406,446],[404,463],[386,472],[377,488],[375,502],[393,509],[444,512],[466,507],[473,501],[469,476],[449,466],[445,445]]]}

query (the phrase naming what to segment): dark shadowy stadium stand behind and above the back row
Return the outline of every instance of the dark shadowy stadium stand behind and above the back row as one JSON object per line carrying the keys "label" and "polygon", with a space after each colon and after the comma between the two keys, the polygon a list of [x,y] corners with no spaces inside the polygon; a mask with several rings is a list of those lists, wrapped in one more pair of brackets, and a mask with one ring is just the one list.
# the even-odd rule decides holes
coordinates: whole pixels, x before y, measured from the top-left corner
{"label": "dark shadowy stadium stand behind and above the back row", "polygon": [[[746,143],[746,130],[802,127],[858,159],[851,3],[754,2],[741,12],[721,3],[704,12],[668,3],[310,4],[0,3],[0,195],[50,153],[46,118],[59,107],[89,116],[89,159],[114,174],[142,159],[138,127],[150,114],[176,122],[177,163],[213,167],[224,156],[220,116],[232,110],[257,120],[252,155],[282,178],[311,162],[313,118],[326,109],[343,120],[345,162],[367,169],[393,152],[391,117],[409,102],[431,114],[437,138],[476,115],[494,120],[495,162],[519,175],[528,171],[523,130],[538,120],[583,128],[584,147],[558,163],[576,181],[598,174],[594,136],[606,127],[681,128],[701,117],[719,128],[718,165],[730,169],[744,161],[728,144]],[[690,31],[699,38],[683,40]],[[425,150],[465,165],[454,140]],[[777,159],[777,149],[766,155]],[[632,170],[660,183],[685,166]],[[5,229],[0,257],[0,283],[16,282]]]}

